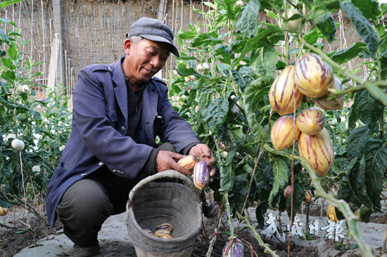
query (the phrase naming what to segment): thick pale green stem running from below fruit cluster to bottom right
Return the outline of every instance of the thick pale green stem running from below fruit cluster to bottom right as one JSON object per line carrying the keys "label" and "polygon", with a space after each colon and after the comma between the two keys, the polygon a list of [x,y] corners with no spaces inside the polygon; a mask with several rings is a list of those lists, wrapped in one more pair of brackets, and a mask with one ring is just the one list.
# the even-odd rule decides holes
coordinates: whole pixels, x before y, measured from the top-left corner
{"label": "thick pale green stem running from below fruit cluster to bottom right", "polygon": [[[269,145],[265,144],[263,145],[265,147],[265,150],[272,152],[273,154],[278,154],[284,157],[288,157],[289,159],[292,158],[291,154],[287,154],[284,152],[279,152],[277,150],[272,149],[269,147]],[[300,163],[305,167],[307,172],[310,175],[310,178],[312,178],[312,184],[315,186],[315,189],[317,191],[317,195],[319,197],[323,197],[324,199],[329,200],[331,204],[334,204],[337,206],[338,210],[343,213],[343,216],[347,220],[348,227],[350,229],[351,235],[353,239],[355,239],[357,246],[359,246],[360,251],[362,251],[362,256],[367,257],[374,257],[374,253],[372,252],[372,249],[364,242],[364,239],[360,235],[360,229],[359,229],[359,218],[355,216],[353,211],[350,209],[350,206],[347,202],[345,202],[343,199],[336,199],[333,194],[326,194],[324,192],[324,189],[322,188],[322,185],[319,183],[319,178],[317,177],[316,171],[313,170],[309,164],[305,161],[305,158],[293,156],[294,159],[300,161]]]}

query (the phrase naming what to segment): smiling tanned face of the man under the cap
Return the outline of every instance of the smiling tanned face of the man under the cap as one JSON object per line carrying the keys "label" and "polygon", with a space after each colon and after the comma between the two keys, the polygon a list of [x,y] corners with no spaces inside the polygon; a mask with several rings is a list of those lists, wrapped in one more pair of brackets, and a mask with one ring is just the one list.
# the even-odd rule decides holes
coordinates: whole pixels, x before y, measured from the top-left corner
{"label": "smiling tanned face of the man under the cap", "polygon": [[125,76],[132,85],[139,86],[163,69],[170,55],[170,45],[148,39],[139,40],[134,44],[127,39],[125,53]]}

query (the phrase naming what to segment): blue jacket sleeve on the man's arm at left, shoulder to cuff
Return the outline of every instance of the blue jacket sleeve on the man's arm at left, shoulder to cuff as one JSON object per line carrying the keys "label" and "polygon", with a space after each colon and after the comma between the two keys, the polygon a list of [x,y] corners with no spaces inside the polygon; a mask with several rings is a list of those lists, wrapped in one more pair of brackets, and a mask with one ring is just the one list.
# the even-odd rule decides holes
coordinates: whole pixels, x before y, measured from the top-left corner
{"label": "blue jacket sleeve on the man's arm at left, shoulder to cuff", "polygon": [[[106,77],[111,79],[110,73]],[[75,129],[79,131],[87,149],[110,171],[117,176],[133,179],[144,166],[153,147],[137,144],[132,138],[124,136],[124,132],[114,128],[114,123],[118,121],[115,106],[106,103],[106,98],[111,97],[107,94],[114,94],[113,86],[104,88],[105,82],[98,78],[89,68],[79,72],[73,92]]]}

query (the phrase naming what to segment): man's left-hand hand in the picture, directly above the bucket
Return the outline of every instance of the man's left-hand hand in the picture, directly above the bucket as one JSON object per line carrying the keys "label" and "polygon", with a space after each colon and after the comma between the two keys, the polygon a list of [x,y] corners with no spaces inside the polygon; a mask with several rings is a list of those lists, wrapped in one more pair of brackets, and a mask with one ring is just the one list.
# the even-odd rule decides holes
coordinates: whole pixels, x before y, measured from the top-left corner
{"label": "man's left-hand hand in the picture, directly above the bucket", "polygon": [[169,169],[174,169],[175,171],[179,171],[179,173],[183,173],[186,176],[191,175],[191,172],[177,164],[177,162],[175,162],[174,160],[182,159],[182,157],[184,157],[184,155],[182,154],[176,154],[175,152],[160,150],[156,155],[155,170],[157,172],[162,172],[167,171]]}

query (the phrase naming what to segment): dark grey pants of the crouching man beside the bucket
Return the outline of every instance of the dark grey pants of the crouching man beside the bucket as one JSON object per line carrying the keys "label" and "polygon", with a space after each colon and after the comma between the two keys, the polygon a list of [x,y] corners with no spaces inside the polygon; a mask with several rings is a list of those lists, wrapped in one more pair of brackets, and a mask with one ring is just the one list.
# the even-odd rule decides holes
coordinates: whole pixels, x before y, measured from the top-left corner
{"label": "dark grey pants of the crouching man beside the bucket", "polygon": [[[176,152],[170,143],[158,149]],[[126,211],[130,190],[145,177],[125,180],[115,175],[101,178],[91,174],[71,185],[57,209],[65,235],[81,247],[99,244],[102,224],[110,215]]]}

